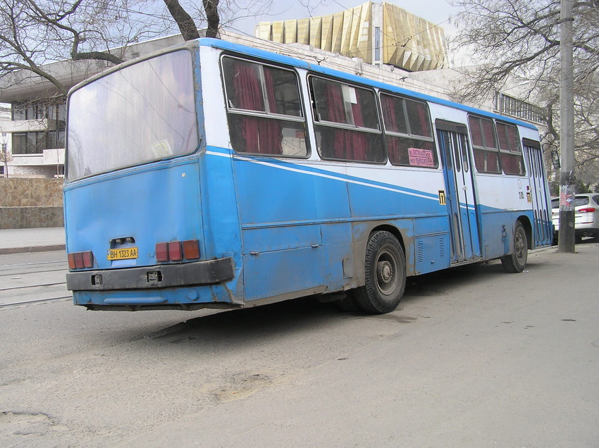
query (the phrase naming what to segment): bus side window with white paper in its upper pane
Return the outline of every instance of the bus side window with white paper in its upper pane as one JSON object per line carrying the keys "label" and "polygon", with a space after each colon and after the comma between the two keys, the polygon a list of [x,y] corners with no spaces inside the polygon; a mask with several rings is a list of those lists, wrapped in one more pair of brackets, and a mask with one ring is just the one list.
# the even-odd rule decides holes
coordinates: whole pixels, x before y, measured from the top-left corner
{"label": "bus side window with white paper in its upper pane", "polygon": [[310,85],[321,157],[384,163],[374,92],[319,77]]}

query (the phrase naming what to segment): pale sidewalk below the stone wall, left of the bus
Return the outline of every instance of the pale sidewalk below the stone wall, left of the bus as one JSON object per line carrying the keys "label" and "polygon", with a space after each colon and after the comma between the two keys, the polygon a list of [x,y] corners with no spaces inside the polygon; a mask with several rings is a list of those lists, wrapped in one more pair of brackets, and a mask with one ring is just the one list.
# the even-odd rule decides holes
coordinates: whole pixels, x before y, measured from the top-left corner
{"label": "pale sidewalk below the stone wall, left of the bus", "polygon": [[0,230],[0,255],[58,250],[65,250],[63,227]]}

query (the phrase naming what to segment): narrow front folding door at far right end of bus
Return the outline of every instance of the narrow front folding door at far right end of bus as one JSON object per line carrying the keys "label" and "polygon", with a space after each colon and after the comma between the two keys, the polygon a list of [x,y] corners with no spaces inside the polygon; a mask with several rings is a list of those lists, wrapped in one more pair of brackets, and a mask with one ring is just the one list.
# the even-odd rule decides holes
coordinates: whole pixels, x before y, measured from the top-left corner
{"label": "narrow front folding door at far right end of bus", "polygon": [[553,228],[548,205],[549,193],[545,188],[547,180],[545,178],[541,144],[524,139],[524,157],[526,158],[530,185],[530,190],[526,192],[526,199],[532,202],[534,213],[534,242],[536,246],[542,246],[551,243]]}

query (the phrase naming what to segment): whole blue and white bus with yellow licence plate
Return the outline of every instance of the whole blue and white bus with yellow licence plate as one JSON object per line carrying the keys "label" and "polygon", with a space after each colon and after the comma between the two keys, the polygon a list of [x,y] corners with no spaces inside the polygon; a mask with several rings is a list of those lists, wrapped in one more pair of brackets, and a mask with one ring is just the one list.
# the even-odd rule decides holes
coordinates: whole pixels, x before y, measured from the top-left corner
{"label": "whole blue and white bus with yellow licence plate", "polygon": [[538,130],[218,39],[68,96],[75,304],[393,311],[406,277],[551,243]]}

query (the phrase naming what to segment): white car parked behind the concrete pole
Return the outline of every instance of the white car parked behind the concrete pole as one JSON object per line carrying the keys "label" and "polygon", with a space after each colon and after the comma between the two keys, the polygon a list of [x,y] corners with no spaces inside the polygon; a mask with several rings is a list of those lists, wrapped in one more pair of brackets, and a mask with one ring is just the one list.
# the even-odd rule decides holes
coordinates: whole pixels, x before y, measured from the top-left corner
{"label": "white car parked behind the concrete pole", "polygon": [[[551,199],[554,241],[560,230],[560,198]],[[574,197],[574,235],[576,242],[583,237],[599,238],[599,193],[581,193]]]}

